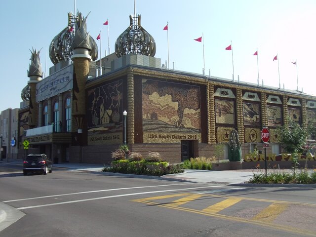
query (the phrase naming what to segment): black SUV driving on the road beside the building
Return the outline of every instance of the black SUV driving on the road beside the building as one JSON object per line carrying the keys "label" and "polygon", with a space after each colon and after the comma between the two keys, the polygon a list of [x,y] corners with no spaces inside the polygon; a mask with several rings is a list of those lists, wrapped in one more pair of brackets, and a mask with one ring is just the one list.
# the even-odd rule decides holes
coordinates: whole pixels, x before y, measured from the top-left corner
{"label": "black SUV driving on the road beside the building", "polygon": [[28,172],[51,173],[53,163],[45,154],[30,154],[23,160],[23,174]]}

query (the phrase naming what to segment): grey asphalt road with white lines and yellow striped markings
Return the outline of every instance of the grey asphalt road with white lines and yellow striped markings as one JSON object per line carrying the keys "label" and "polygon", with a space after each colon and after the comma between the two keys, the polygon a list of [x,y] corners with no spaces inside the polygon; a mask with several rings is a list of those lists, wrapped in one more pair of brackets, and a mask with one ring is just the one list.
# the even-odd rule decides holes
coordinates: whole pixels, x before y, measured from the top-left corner
{"label": "grey asphalt road with white lines and yellow striped markings", "polygon": [[[22,217],[0,237],[316,237],[314,188],[232,187],[0,166]],[[16,170],[14,171],[14,169]],[[1,223],[0,223],[1,225]]]}

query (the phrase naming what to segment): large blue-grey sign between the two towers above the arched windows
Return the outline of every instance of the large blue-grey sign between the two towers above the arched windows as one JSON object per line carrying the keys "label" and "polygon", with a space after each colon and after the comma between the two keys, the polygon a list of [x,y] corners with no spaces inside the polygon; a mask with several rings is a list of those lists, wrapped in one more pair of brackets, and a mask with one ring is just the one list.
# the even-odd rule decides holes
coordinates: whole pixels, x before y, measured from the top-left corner
{"label": "large blue-grey sign between the two towers above the arched windows", "polygon": [[42,79],[36,85],[36,102],[63,93],[73,88],[73,65],[69,65],[53,75]]}

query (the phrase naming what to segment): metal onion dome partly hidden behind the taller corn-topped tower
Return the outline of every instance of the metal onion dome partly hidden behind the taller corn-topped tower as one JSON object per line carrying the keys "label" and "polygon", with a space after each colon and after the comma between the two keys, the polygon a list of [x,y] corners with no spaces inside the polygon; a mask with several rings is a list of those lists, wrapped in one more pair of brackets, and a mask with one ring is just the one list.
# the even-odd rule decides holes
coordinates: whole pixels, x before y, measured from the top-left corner
{"label": "metal onion dome partly hidden behind the taller corn-topped tower", "polygon": [[[77,31],[79,31],[78,21],[84,21],[85,24],[85,20],[86,18],[83,19],[81,17],[81,13],[78,13],[78,16],[75,16],[70,12],[68,13],[68,26],[64,28],[57,36],[55,36],[49,45],[49,58],[53,64],[57,64],[60,61],[70,60],[71,56],[74,53],[73,44],[76,38],[76,33]],[[91,59],[95,61],[98,58],[97,43],[93,40],[91,36],[89,36],[88,41],[89,45],[86,45],[85,47],[90,48],[89,54],[91,56]]]}

